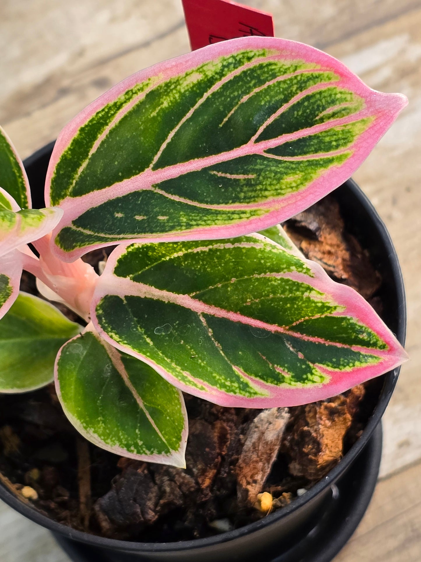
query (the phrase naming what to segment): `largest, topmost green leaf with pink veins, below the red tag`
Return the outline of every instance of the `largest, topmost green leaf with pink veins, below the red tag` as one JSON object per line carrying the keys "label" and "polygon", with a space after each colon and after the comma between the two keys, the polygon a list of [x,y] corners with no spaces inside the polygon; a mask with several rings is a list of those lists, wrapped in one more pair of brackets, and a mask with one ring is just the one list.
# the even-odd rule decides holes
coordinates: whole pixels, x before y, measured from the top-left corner
{"label": "largest, topmost green leaf with pink veins, below the red tag", "polygon": [[138,72],[60,134],[46,200],[72,261],[117,241],[234,237],[340,185],[406,105],[341,62],[285,39],[244,37]]}

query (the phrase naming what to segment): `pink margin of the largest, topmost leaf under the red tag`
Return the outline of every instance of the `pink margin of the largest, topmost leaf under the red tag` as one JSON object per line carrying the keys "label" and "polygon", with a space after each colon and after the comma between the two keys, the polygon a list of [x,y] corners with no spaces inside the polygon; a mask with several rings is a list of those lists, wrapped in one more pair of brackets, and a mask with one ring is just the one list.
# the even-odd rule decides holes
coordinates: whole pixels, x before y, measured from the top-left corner
{"label": "pink margin of the largest, topmost leaf under the red tag", "polygon": [[[134,87],[135,84],[138,84],[141,81],[147,80],[151,76],[156,76],[157,83],[161,83],[164,80],[168,80],[173,76],[182,74],[196,66],[212,61],[218,57],[227,56],[247,49],[268,49],[270,51],[277,51],[279,53],[279,58],[283,60],[303,60],[306,63],[317,64],[323,67],[323,69],[332,70],[340,77],[340,81],[335,83],[338,87],[345,87],[352,90],[365,101],[364,110],[355,114],[353,119],[360,119],[368,115],[376,115],[377,118],[374,119],[373,123],[368,126],[367,130],[365,130],[365,132],[362,133],[358,140],[354,143],[353,155],[347,158],[344,164],[338,167],[332,167],[327,171],[327,173],[324,173],[319,176],[319,178],[313,180],[308,187],[301,190],[299,193],[292,193],[281,199],[268,201],[263,203],[263,205],[256,205],[262,208],[268,207],[266,215],[226,226],[210,226],[189,230],[187,232],[159,235],[160,241],[171,242],[192,239],[200,240],[236,237],[242,234],[263,230],[268,228],[268,226],[280,223],[306,209],[350,178],[365,158],[367,158],[374,145],[383,136],[383,134],[385,134],[387,129],[390,128],[399,112],[408,103],[408,99],[403,94],[382,93],[370,89],[358,78],[358,76],[354,75],[353,72],[351,72],[336,58],[319,51],[319,49],[305,45],[304,43],[271,37],[242,37],[215,43],[202,49],[198,49],[197,51],[187,53],[186,55],[160,62],[157,65],[151,66],[148,69],[141,70],[140,72],[129,76],[115,87],[109,89],[108,92],[96,99],[83,111],[81,111],[79,115],[72,119],[62,130],[57,139],[56,145],[54,146],[45,183],[45,200],[50,200],[51,179],[63,151],[65,151],[65,149],[69,146],[72,138],[77,134],[80,127],[83,126],[98,110],[106,106],[108,103],[115,101],[115,99],[127,89]],[[211,165],[211,162],[209,165]],[[163,174],[161,181],[165,179],[164,175],[165,174]],[[104,188],[98,192],[89,193],[86,196],[75,198],[67,197],[63,200],[61,206],[63,207],[65,214],[63,215],[63,218],[57,228],[54,229],[52,237],[54,252],[58,253],[62,260],[73,261],[77,257],[86,253],[88,250],[115,244],[115,242],[103,242],[91,244],[85,248],[76,248],[71,252],[64,252],[55,246],[54,239],[63,226],[70,225],[72,220],[74,220],[77,216],[80,216],[80,214],[86,210],[86,202],[83,203],[84,198],[89,198],[89,208],[95,207],[110,198],[118,197],[126,193],[128,184],[135,183],[136,177],[125,180],[125,182],[122,182],[121,184],[111,186],[111,188]],[[121,189],[120,193],[118,193],[118,187],[120,185]],[[123,188],[123,185],[125,185],[125,188]],[[135,187],[133,185],[130,187],[129,191],[133,191],[134,189]],[[251,207],[252,206],[248,206],[250,209]],[[133,237],[127,239],[127,242],[135,242],[139,239],[139,237]],[[150,236],[141,239],[143,242],[153,242],[156,241],[158,237]]]}

